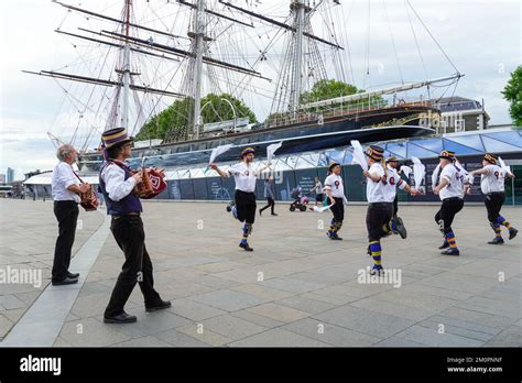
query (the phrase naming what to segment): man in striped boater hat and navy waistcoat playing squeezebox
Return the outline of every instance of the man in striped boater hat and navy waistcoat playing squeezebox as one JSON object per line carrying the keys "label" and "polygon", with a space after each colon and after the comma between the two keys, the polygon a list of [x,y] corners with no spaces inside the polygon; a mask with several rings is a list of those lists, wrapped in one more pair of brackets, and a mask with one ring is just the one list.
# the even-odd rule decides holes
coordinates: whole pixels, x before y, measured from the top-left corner
{"label": "man in striped boater hat and navy waistcoat playing squeezebox", "polygon": [[154,289],[152,262],[145,248],[145,232],[140,217],[142,206],[134,194],[141,175],[132,172],[123,163],[131,156],[132,138],[123,128],[104,132],[104,156],[106,163],[100,169],[100,192],[107,206],[107,214],[112,216],[110,231],[123,250],[126,261],[112,291],[109,304],[104,314],[106,324],[128,324],[137,317],[123,310],[135,284],[139,283],[145,300],[145,311],[152,313],[171,307],[170,302],[161,299]]}

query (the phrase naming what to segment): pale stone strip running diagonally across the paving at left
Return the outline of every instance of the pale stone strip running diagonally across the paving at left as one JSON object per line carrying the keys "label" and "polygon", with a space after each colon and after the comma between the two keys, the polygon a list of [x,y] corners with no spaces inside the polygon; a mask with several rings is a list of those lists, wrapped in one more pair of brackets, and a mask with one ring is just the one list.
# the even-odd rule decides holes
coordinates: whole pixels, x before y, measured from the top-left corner
{"label": "pale stone strip running diagonally across the paving at left", "polygon": [[0,341],[0,347],[53,347],[109,236],[109,216],[106,216],[105,221],[72,259],[70,270],[81,274],[78,283],[66,286],[48,284]]}

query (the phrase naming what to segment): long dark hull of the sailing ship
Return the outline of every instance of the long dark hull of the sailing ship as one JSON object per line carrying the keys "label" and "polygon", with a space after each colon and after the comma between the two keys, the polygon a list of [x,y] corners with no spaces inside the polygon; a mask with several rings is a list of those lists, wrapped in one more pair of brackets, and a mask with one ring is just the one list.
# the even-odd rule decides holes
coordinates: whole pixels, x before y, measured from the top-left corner
{"label": "long dark hull of the sailing ship", "polygon": [[[265,157],[267,146],[278,142],[283,144],[276,154],[285,155],[346,146],[350,140],[365,143],[427,135],[433,134],[434,131],[421,127],[418,114],[428,111],[438,113],[438,110],[424,106],[395,107],[359,113],[356,117],[333,117],[325,119],[323,123],[311,120],[305,123],[254,130],[248,133],[134,149],[133,157],[129,158],[129,163],[131,167],[139,167],[143,156],[149,157],[146,160],[149,166],[173,167],[208,163],[211,150],[226,144],[233,144],[233,146],[217,158],[219,162],[238,160],[241,151],[248,146],[255,150],[257,157]],[[406,119],[407,122],[401,125],[371,128],[392,119]],[[99,153],[83,154],[79,160],[79,167],[84,173],[97,172],[101,164],[102,158]]]}

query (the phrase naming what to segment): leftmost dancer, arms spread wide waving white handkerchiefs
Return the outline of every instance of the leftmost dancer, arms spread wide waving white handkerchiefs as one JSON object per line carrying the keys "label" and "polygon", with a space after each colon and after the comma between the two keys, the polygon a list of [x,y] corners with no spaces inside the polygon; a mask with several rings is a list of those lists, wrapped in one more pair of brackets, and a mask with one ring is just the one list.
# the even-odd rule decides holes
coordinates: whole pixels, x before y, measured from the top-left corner
{"label": "leftmost dancer, arms spread wide waving white handkerchiefs", "polygon": [[257,171],[253,167],[254,150],[247,147],[241,152],[241,162],[230,166],[228,172],[221,171],[215,163],[210,168],[216,171],[221,177],[233,176],[236,182],[235,204],[237,219],[244,222],[242,239],[239,247],[244,251],[253,251],[248,243],[248,237],[252,233],[252,226],[255,220],[255,182],[258,176],[270,166],[260,166]]}

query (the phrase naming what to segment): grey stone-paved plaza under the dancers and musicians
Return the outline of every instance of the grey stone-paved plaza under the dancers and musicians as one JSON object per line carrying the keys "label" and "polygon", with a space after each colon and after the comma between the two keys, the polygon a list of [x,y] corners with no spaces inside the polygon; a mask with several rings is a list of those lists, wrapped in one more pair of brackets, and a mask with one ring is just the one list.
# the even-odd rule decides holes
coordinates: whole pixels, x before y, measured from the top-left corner
{"label": "grey stone-paved plaza under the dancers and musicians", "polygon": [[[504,245],[487,244],[493,231],[481,205],[456,217],[460,256],[439,254],[437,206],[400,206],[409,237],[382,240],[383,265],[395,274],[376,281],[366,272],[366,206],[347,207],[344,241],[331,241],[329,211],[278,204],[279,217],[257,216],[249,253],[224,204],[145,203],[155,286],[172,307],[145,314],[137,286],[126,310],[138,322],[129,325],[102,322],[123,262],[104,214],[80,212],[70,267],[79,283],[50,284],[52,207],[0,200],[0,270],[11,277],[0,284],[0,346],[522,346],[522,234],[508,241],[503,230]],[[522,228],[520,208],[502,212]],[[41,286],[13,283],[22,269],[41,270]]]}

